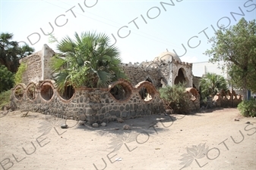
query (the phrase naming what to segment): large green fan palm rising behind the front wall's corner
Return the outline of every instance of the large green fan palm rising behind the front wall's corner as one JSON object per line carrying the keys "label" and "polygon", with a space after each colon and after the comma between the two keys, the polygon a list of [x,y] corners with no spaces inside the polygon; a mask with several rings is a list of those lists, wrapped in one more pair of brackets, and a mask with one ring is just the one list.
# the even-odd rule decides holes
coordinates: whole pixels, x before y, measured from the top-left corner
{"label": "large green fan palm rising behind the front wall's corner", "polygon": [[95,32],[82,32],[79,36],[75,32],[74,38],[66,36],[58,42],[61,54],[52,58],[59,90],[63,91],[67,85],[106,88],[109,82],[126,79],[120,68],[119,50],[109,45],[108,36]]}

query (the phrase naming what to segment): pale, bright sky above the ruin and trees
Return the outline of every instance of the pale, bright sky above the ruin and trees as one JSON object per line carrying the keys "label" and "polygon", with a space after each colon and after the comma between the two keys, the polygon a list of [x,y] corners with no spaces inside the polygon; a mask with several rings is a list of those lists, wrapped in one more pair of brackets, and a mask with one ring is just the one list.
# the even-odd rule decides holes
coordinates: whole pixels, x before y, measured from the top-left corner
{"label": "pale, bright sky above the ruin and trees", "polygon": [[40,51],[44,44],[55,50],[55,44],[49,44],[49,36],[40,30],[42,28],[46,34],[52,32],[51,23],[52,33],[58,40],[73,37],[74,32],[106,33],[113,44],[116,39],[115,45],[121,51],[124,63],[153,60],[166,49],[179,56],[184,54],[181,60],[185,62],[207,61],[209,57],[203,53],[210,48],[207,36],[214,36],[213,28],[234,25],[242,17],[245,20],[256,18],[256,0],[1,0],[0,5],[0,32],[14,33],[15,41],[27,42],[36,51]]}

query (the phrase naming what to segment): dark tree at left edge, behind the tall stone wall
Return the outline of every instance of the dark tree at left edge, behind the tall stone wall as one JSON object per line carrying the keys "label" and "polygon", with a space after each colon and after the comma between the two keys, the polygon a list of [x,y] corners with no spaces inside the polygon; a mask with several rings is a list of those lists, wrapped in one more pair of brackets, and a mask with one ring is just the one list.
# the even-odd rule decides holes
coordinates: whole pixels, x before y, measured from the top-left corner
{"label": "dark tree at left edge, behind the tall stone wall", "polygon": [[0,63],[5,65],[12,73],[17,72],[19,60],[33,53],[34,49],[29,45],[19,46],[18,42],[11,41],[11,33],[0,34]]}

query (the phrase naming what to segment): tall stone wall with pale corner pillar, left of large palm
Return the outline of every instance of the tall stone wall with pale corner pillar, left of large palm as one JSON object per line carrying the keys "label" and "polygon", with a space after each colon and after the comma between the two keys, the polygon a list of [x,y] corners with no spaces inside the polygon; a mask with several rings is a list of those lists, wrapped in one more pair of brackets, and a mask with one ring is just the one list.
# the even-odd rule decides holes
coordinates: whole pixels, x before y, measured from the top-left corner
{"label": "tall stone wall with pale corner pillar, left of large palm", "polygon": [[39,82],[43,79],[52,79],[50,59],[55,54],[48,45],[43,45],[43,49],[30,56],[24,57],[20,63],[25,63],[27,70],[24,72],[22,82]]}

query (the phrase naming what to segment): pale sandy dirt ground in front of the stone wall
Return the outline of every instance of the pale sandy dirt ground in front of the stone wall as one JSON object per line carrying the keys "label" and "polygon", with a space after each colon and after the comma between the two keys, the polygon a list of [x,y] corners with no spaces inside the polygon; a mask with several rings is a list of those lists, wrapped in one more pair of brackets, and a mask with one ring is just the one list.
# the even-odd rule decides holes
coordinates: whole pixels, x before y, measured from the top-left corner
{"label": "pale sandy dirt ground in front of the stone wall", "polygon": [[[99,128],[23,115],[0,114],[0,169],[256,169],[256,119],[236,109],[145,116]],[[63,123],[68,128],[60,128]]]}

